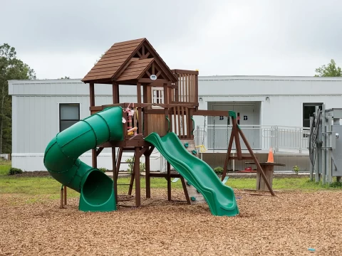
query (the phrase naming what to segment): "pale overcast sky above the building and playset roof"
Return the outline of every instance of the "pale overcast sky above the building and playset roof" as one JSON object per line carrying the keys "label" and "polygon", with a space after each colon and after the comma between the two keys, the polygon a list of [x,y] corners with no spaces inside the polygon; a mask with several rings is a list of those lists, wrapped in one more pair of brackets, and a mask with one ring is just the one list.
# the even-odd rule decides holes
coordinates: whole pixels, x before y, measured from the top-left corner
{"label": "pale overcast sky above the building and playset roof", "polygon": [[342,66],[341,0],[1,1],[0,45],[38,79],[83,78],[116,42],[147,38],[171,69],[315,75]]}

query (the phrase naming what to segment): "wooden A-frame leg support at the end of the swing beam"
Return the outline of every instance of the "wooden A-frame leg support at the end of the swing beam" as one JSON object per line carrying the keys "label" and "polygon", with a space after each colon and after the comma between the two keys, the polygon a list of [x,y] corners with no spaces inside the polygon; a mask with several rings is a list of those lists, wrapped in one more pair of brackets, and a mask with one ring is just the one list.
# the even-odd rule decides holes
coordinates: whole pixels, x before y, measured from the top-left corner
{"label": "wooden A-frame leg support at the end of the swing beam", "polygon": [[[264,182],[265,182],[267,188],[269,188],[269,192],[271,193],[272,196],[276,196],[273,189],[271,188],[271,185],[269,184],[269,181],[266,179],[266,176],[264,174],[264,170],[261,168],[259,161],[257,159],[257,156],[255,156],[254,152],[252,151],[251,146],[249,145],[246,137],[244,136],[244,133],[240,129],[239,125],[237,124],[237,116],[236,116],[235,112],[229,111],[229,117],[232,117],[232,134],[230,135],[228,149],[227,149],[227,156],[226,156],[226,159],[224,161],[222,181],[224,180],[224,178],[227,175],[227,168],[228,168],[228,163],[229,163],[230,159],[237,159],[237,160],[252,159],[254,161],[254,164],[257,165],[257,169],[258,169],[258,171],[260,171],[261,177],[264,179]],[[249,151],[250,156],[242,156],[242,150],[241,150],[239,135],[242,137],[244,144],[247,146],[247,149]],[[235,145],[237,148],[237,156],[231,156],[230,155],[231,151],[232,151],[234,139],[235,139]]]}

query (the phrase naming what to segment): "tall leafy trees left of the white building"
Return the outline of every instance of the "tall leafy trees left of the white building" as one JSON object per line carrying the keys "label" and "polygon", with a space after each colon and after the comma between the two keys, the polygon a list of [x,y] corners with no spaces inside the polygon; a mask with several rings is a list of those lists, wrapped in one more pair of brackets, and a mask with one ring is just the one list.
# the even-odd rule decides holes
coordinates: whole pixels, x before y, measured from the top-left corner
{"label": "tall leafy trees left of the white building", "polygon": [[0,154],[11,153],[12,98],[9,80],[36,79],[36,73],[16,58],[16,49],[4,43],[0,46]]}

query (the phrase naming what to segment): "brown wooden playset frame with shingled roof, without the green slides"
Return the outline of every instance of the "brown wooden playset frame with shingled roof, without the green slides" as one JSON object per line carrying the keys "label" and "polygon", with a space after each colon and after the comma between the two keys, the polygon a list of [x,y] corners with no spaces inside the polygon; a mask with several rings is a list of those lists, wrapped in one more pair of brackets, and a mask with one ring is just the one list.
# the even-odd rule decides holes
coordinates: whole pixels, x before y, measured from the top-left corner
{"label": "brown wooden playset frame with shingled roof, without the green slides", "polygon": [[[191,202],[187,181],[180,174],[171,173],[170,163],[167,162],[167,172],[150,173],[150,155],[155,146],[145,141],[151,132],[160,137],[168,132],[174,132],[184,144],[191,144],[189,151],[197,156],[199,149],[195,148],[193,116],[223,116],[232,118],[232,135],[229,140],[227,159],[224,163],[222,181],[227,174],[227,165],[230,159],[252,159],[257,164],[259,174],[264,180],[271,195],[274,191],[266,179],[263,169],[254,155],[251,146],[239,125],[234,112],[199,110],[197,70],[171,70],[160,58],[160,55],[151,46],[146,38],[133,41],[115,43],[96,63],[82,81],[90,87],[90,114],[100,112],[107,107],[120,106],[124,110],[122,141],[106,142],[92,150],[93,167],[97,168],[97,157],[104,148],[112,149],[113,156],[113,186],[115,198],[118,202],[118,171],[123,152],[134,152],[133,174],[130,180],[128,193],[133,191],[135,181],[135,206],[140,206],[140,157],[145,156],[146,198],[150,198],[150,178],[165,177],[167,179],[167,199],[171,198],[172,178],[180,178],[184,188],[187,203]],[[113,87],[113,104],[95,105],[95,84],[109,84]],[[136,102],[120,102],[120,87],[135,86]],[[242,156],[239,135],[249,150],[250,156]],[[231,156],[232,143],[235,139],[237,156]],[[115,156],[118,148],[118,156]],[[66,191],[65,191],[66,192]],[[63,191],[61,191],[61,196]],[[66,197],[65,197],[66,198]],[[66,200],[66,199],[65,199]],[[120,200],[119,200],[120,201]],[[63,199],[61,199],[63,206]]]}

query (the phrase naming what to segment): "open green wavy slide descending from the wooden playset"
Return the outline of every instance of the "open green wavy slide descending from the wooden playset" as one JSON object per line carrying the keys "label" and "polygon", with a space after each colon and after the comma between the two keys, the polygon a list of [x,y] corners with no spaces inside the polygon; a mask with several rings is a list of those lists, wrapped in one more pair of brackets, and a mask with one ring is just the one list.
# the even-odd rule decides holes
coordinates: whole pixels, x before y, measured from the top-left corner
{"label": "open green wavy slide descending from the wooden playset", "polygon": [[169,132],[160,136],[152,132],[145,141],[153,144],[160,154],[188,181],[207,201],[212,215],[234,216],[239,214],[234,191],[220,181],[212,168],[190,154],[177,134]]}

